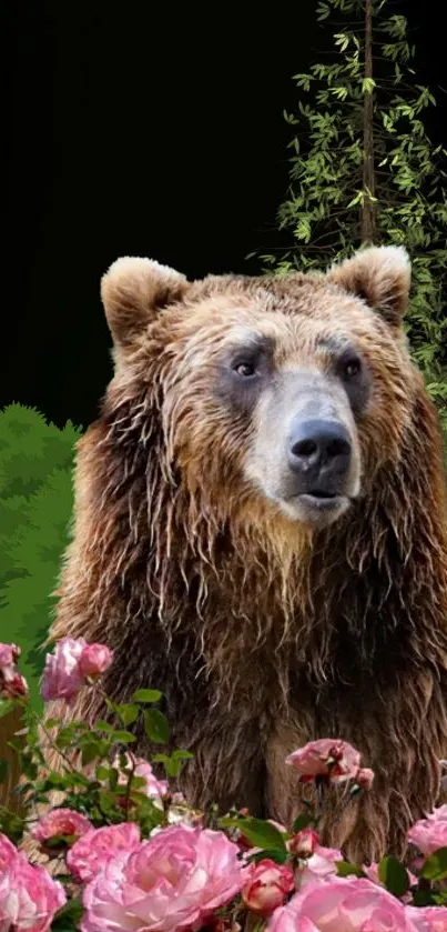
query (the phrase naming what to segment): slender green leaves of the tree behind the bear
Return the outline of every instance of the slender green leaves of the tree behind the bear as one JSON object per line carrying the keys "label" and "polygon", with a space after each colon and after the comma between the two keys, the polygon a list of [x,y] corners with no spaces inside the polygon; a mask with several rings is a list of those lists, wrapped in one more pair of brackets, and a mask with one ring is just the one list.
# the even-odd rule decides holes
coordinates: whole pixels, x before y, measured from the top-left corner
{"label": "slender green leaves of the tree behind the bear", "polygon": [[[289,189],[278,223],[291,234],[266,269],[324,269],[362,244],[362,214],[373,207],[375,241],[402,243],[413,262],[407,329],[415,361],[447,432],[446,150],[434,147],[424,113],[436,101],[417,83],[405,16],[373,0],[374,78],[365,78],[364,0],[322,0],[317,18],[333,23],[333,53],[295,74],[297,113]],[[365,189],[364,104],[373,96],[374,193]],[[307,98],[307,99],[306,99]]]}

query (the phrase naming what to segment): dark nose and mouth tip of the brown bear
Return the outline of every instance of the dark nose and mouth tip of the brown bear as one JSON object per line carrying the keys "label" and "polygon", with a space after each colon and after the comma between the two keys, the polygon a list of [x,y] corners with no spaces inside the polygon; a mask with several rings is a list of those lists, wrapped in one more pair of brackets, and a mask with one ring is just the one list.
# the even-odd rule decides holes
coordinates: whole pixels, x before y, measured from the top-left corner
{"label": "dark nose and mouth tip of the brown bear", "polygon": [[342,478],[351,464],[349,433],[339,421],[295,419],[288,435],[288,465],[307,488],[335,491],[333,480]]}

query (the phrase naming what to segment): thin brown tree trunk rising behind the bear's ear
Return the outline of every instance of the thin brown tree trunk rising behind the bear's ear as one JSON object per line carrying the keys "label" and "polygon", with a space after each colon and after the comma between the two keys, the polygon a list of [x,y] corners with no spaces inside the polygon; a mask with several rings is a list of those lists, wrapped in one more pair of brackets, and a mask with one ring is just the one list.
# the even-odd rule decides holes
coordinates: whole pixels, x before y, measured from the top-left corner
{"label": "thin brown tree trunk rising behind the bear's ear", "polygon": [[[365,78],[373,78],[373,0],[365,0]],[[372,200],[375,191],[373,107],[373,91],[367,91],[363,110],[363,243],[374,243],[376,238],[375,202]]]}

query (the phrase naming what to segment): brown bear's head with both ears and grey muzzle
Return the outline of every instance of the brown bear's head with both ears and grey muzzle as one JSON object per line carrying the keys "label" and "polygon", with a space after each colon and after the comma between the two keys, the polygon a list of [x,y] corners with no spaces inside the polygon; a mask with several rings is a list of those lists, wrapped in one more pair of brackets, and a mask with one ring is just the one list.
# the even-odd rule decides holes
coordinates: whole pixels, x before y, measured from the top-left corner
{"label": "brown bear's head with both ears and grey muzzle", "polygon": [[102,280],[111,391],[156,434],[165,481],[216,523],[324,528],[402,455],[421,390],[402,328],[409,284],[400,247],[326,274],[196,282],[119,259]]}

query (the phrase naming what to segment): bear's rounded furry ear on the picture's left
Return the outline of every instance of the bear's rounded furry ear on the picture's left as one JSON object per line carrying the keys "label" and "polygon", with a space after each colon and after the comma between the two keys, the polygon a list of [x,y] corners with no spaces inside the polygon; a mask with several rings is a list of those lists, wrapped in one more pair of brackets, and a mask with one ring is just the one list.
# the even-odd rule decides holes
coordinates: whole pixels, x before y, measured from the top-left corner
{"label": "bear's rounded furry ear on the picture's left", "polygon": [[184,275],[153,259],[116,259],[101,281],[105,317],[118,347],[129,347],[166,304],[189,289]]}

